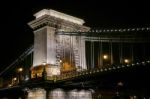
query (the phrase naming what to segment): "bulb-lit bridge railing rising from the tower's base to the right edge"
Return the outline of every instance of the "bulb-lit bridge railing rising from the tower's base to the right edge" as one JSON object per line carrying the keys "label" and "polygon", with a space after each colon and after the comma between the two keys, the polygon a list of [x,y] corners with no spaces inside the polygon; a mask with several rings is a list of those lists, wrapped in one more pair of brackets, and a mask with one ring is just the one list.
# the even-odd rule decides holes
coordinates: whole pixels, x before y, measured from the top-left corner
{"label": "bulb-lit bridge railing rising from the tower's base to the right edge", "polygon": [[150,64],[150,61],[143,61],[143,62],[137,62],[137,63],[131,63],[131,64],[121,64],[121,65],[117,65],[117,66],[111,65],[111,66],[103,67],[103,68],[94,68],[94,69],[90,69],[90,70],[70,72],[70,73],[61,74],[61,75],[46,76],[45,80],[50,80],[53,82],[60,82],[60,81],[66,81],[66,80],[72,80],[75,78],[80,78],[83,76],[92,76],[94,74],[117,71],[119,69],[124,69],[124,68],[131,68],[131,67],[136,67],[136,66],[145,66],[148,64]]}

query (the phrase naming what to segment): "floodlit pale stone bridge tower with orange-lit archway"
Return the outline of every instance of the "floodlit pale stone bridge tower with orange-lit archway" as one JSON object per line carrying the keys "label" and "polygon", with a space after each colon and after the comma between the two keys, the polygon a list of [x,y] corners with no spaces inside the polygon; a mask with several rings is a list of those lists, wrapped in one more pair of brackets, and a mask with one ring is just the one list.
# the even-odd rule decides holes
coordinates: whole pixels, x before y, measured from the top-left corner
{"label": "floodlit pale stone bridge tower with orange-lit archway", "polygon": [[41,10],[29,22],[34,30],[32,78],[41,76],[46,65],[47,76],[61,72],[87,69],[85,40],[79,36],[57,35],[61,31],[88,31],[84,20],[57,12]]}

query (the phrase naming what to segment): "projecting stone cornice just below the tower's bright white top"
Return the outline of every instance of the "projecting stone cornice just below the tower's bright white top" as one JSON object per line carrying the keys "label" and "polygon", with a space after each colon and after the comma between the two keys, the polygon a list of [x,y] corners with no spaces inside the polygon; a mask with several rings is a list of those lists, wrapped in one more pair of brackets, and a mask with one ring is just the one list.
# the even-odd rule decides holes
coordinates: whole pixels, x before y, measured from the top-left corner
{"label": "projecting stone cornice just below the tower's bright white top", "polygon": [[28,25],[30,25],[30,27],[33,30],[37,30],[43,26],[50,26],[50,27],[54,27],[57,29],[65,29],[69,27],[73,31],[76,31],[76,30],[87,31],[90,29],[87,26],[76,24],[76,23],[66,21],[64,19],[56,18],[50,15],[43,15],[37,18],[36,20],[29,22]]}

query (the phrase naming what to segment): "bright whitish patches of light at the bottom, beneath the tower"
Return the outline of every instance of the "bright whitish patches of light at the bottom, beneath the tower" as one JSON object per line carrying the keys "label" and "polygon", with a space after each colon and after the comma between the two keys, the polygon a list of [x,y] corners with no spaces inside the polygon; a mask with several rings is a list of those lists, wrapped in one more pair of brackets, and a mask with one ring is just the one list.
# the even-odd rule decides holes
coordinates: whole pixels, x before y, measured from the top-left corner
{"label": "bright whitish patches of light at the bottom, beneath the tower", "polygon": [[[41,88],[29,90],[27,99],[46,99],[46,91]],[[92,99],[92,91],[77,89],[64,91],[57,88],[49,91],[48,99]]]}

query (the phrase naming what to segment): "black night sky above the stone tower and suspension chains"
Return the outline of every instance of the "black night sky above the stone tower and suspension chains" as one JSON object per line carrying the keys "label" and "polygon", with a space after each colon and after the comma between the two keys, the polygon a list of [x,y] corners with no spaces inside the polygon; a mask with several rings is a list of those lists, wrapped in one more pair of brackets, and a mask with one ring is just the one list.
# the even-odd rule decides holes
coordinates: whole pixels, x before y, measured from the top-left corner
{"label": "black night sky above the stone tower and suspension chains", "polygon": [[[110,2],[111,1],[111,2]],[[131,0],[5,0],[0,3],[0,68],[8,66],[33,43],[27,25],[37,11],[50,8],[86,21],[93,28],[150,26],[148,2]]]}

